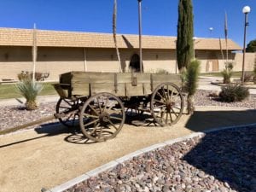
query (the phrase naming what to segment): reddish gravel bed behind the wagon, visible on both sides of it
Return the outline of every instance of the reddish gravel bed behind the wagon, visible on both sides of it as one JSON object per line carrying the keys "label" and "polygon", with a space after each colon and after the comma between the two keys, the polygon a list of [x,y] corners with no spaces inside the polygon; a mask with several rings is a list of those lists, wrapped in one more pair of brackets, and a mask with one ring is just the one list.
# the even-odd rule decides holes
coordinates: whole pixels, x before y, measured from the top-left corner
{"label": "reddish gravel bed behind the wagon, visible on both sides of it", "polygon": [[[196,106],[221,106],[235,108],[256,108],[256,95],[251,95],[243,102],[218,102],[218,98],[209,96],[214,91],[198,90],[195,95]],[[40,119],[47,115],[55,113],[55,102],[40,103],[39,108],[33,111],[27,111],[24,106],[6,106],[0,107],[0,130],[4,130],[15,125],[23,125],[33,120]],[[48,123],[58,122],[57,119]],[[31,126],[28,128],[40,127],[42,125]]]}

